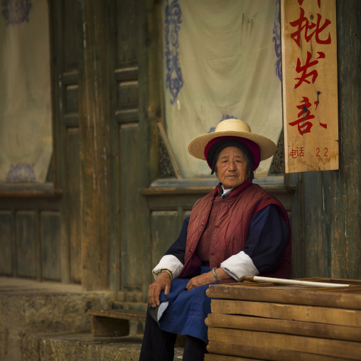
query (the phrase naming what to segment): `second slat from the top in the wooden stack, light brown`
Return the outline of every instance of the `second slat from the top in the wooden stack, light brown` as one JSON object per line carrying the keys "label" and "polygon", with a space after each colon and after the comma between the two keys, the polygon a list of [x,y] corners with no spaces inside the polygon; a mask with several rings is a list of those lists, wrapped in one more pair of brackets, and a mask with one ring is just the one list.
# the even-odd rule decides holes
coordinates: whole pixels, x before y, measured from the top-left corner
{"label": "second slat from the top in the wooden stack, light brown", "polygon": [[269,302],[212,300],[212,313],[279,318],[305,322],[361,327],[361,311],[342,308],[287,305]]}

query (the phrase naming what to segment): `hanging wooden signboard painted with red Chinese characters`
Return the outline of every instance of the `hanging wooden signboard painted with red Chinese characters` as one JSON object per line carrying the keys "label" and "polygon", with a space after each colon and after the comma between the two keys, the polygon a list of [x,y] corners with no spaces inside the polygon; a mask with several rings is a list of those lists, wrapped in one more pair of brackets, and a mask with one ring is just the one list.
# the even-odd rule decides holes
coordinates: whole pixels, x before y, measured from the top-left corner
{"label": "hanging wooden signboard painted with red Chinese characters", "polygon": [[335,0],[281,0],[281,15],[286,173],[338,169]]}

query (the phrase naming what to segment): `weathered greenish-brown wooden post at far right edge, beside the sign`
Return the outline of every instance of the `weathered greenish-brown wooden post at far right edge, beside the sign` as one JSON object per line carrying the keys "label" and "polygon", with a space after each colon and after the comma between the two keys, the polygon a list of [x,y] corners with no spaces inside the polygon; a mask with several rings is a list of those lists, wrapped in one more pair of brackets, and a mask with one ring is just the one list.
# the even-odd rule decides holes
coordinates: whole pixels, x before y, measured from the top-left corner
{"label": "weathered greenish-brown wooden post at far right edge, beside the sign", "polygon": [[[331,275],[361,279],[361,2],[337,1],[340,173],[331,198],[340,227],[331,238]],[[332,228],[331,228],[332,231]]]}

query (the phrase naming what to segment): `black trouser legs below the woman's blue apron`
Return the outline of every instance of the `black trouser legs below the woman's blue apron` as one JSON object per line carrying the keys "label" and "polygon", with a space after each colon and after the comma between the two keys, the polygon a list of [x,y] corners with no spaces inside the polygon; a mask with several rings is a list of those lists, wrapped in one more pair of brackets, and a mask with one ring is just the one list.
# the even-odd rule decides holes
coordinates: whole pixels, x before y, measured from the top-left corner
{"label": "black trouser legs below the woman's blue apron", "polygon": [[[139,361],[173,361],[176,338],[175,333],[161,330],[147,311]],[[203,340],[188,335],[185,339],[183,361],[204,360],[206,346]]]}

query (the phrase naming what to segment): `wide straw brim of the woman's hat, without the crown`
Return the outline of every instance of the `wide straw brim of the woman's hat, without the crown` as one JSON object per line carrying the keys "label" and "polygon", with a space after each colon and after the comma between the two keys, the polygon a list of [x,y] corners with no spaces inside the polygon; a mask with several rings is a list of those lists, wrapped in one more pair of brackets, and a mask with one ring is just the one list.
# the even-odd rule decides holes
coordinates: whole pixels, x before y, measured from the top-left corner
{"label": "wide straw brim of the woman's hat, without the crown", "polygon": [[277,146],[274,144],[274,141],[271,141],[271,139],[267,138],[266,136],[249,133],[247,131],[215,131],[197,136],[197,138],[193,139],[193,141],[191,141],[188,145],[188,152],[191,156],[205,161],[205,146],[207,146],[209,141],[218,138],[219,136],[238,136],[239,138],[245,138],[254,141],[254,143],[259,146],[261,161],[264,161],[265,159],[273,156],[277,150]]}

